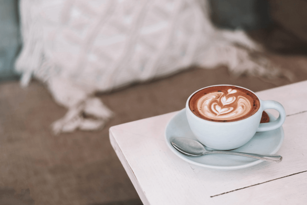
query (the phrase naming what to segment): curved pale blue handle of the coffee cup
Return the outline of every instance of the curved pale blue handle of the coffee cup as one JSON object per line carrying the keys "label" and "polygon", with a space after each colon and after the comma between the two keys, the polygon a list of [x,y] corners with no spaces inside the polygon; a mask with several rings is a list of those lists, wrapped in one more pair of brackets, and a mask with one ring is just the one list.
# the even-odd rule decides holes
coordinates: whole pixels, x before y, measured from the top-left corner
{"label": "curved pale blue handle of the coffee cup", "polygon": [[286,111],[282,104],[274,101],[274,100],[264,100],[262,101],[262,109],[274,109],[279,112],[278,118],[273,122],[260,123],[257,129],[257,132],[275,130],[278,127],[282,126],[282,124],[286,120]]}

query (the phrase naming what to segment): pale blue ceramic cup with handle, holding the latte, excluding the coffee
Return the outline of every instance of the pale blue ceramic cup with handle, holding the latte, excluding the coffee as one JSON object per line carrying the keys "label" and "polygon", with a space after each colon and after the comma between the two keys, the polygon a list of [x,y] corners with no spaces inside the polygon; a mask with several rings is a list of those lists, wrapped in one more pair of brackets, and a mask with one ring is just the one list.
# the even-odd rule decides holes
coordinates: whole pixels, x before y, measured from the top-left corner
{"label": "pale blue ceramic cup with handle, holding the latte, excluding the coffee", "polygon": [[[233,86],[233,85],[214,85],[214,86]],[[208,86],[208,87],[214,87],[214,86]],[[192,95],[194,95],[196,92],[204,88],[195,91]],[[246,89],[244,87],[241,88]],[[251,90],[248,91],[254,93]],[[256,132],[275,130],[280,126],[282,126],[282,124],[285,122],[286,119],[286,111],[282,106],[282,104],[274,100],[263,101],[258,97],[258,95],[255,94],[260,101],[260,107],[258,111],[255,114],[251,115],[250,117],[234,122],[212,122],[204,120],[200,117],[197,117],[189,108],[189,100],[192,97],[192,95],[190,95],[185,105],[189,126],[194,135],[196,136],[196,138],[202,144],[212,149],[229,150],[229,149],[238,148],[246,144],[248,141],[250,141]],[[262,112],[263,110],[266,109],[277,110],[279,112],[279,117],[274,122],[260,124]]]}

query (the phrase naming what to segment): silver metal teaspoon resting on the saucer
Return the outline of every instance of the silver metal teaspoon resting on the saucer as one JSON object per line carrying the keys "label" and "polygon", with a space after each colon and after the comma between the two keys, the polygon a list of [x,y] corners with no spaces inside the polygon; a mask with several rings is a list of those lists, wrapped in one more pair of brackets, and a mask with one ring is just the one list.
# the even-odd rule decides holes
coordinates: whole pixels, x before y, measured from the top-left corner
{"label": "silver metal teaspoon resting on the saucer", "polygon": [[[175,137],[171,140],[173,147],[179,150],[182,153],[192,155],[192,156],[201,156],[203,154],[210,153],[220,153],[220,154],[233,154],[244,157],[251,157],[258,160],[264,160],[269,162],[280,162],[282,161],[282,156],[279,155],[267,155],[267,154],[252,154],[252,153],[243,153],[243,152],[232,152],[232,151],[220,151],[220,150],[206,150],[204,145],[200,142],[185,138],[185,137]],[[264,157],[271,157],[273,159],[267,159]],[[274,160],[276,159],[276,160]]]}

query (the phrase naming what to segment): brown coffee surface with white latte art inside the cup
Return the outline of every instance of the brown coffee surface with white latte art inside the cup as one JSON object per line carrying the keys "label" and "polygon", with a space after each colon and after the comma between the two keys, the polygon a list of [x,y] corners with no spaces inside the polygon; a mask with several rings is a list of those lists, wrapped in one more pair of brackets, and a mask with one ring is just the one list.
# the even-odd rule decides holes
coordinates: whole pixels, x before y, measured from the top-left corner
{"label": "brown coffee surface with white latte art inside the cup", "polygon": [[250,117],[260,107],[258,97],[236,86],[213,86],[196,92],[189,100],[190,110],[212,122],[234,122]]}

